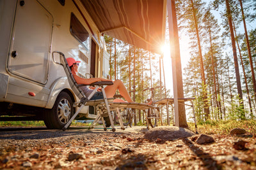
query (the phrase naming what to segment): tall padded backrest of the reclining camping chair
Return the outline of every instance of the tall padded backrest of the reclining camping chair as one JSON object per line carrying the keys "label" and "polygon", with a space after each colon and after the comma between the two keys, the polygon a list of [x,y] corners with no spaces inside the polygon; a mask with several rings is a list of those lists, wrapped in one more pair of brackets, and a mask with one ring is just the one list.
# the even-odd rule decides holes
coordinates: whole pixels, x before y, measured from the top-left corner
{"label": "tall padded backrest of the reclining camping chair", "polygon": [[70,67],[68,66],[68,62],[66,60],[65,55],[61,52],[55,52],[55,53],[60,54],[60,63],[58,63],[58,64],[61,64],[61,66],[63,66],[65,73],[67,74],[68,83],[69,83],[72,91],[74,92],[74,94],[76,94],[76,96],[79,97],[79,99],[81,99],[82,97],[86,97],[84,95],[84,92],[81,89],[79,89],[79,85],[77,84],[77,82],[70,70]]}

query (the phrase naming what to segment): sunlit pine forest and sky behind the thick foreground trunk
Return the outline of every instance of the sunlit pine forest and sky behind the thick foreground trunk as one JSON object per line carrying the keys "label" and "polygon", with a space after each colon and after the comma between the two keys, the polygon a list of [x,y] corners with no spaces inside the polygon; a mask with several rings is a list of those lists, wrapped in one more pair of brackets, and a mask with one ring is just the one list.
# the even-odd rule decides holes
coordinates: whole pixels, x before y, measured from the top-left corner
{"label": "sunlit pine forest and sky behind the thick foreground trunk", "polygon": [[[255,119],[256,1],[175,3],[184,97],[195,97],[196,120]],[[167,46],[168,38],[167,24]],[[155,101],[173,96],[168,48],[159,55],[108,36],[105,39],[110,54],[109,76],[111,80],[122,80],[136,102],[150,98],[150,91],[145,90],[148,87],[154,87]],[[164,109],[162,114],[166,122]],[[188,121],[193,120],[189,106],[186,115]],[[143,122],[140,112],[137,116],[138,122]]]}

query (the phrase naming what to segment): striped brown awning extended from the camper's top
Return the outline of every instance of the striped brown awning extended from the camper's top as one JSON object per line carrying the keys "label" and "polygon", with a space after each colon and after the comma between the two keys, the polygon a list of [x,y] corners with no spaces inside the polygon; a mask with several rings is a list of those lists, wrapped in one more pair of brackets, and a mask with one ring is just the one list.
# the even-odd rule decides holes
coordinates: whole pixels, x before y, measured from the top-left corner
{"label": "striped brown awning extended from the camper's top", "polygon": [[160,53],[166,0],[80,0],[101,33]]}

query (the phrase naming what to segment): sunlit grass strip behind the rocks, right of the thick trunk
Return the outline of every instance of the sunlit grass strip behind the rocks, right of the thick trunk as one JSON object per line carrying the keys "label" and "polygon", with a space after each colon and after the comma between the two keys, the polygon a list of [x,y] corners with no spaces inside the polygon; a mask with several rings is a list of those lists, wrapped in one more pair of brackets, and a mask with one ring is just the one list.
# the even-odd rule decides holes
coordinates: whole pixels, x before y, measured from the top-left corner
{"label": "sunlit grass strip behind the rocks, right of the thick trunk", "polygon": [[[195,132],[195,124],[188,123],[188,125],[189,129]],[[200,134],[229,134],[234,128],[245,129],[246,132],[256,134],[256,120],[211,120],[197,125]]]}

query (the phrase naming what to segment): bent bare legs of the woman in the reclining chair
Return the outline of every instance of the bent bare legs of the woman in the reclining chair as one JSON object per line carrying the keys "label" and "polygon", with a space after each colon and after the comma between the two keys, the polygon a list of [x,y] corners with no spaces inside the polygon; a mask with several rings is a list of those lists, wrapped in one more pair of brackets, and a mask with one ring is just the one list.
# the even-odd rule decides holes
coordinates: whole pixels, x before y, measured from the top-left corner
{"label": "bent bare legs of the woman in the reclining chair", "polygon": [[113,85],[108,85],[105,88],[106,96],[107,97],[113,97],[115,95],[116,90],[118,89],[120,94],[125,98],[125,100],[129,103],[132,103],[131,96],[129,95],[129,92],[124,86],[124,83],[121,80],[116,80],[113,82]]}

